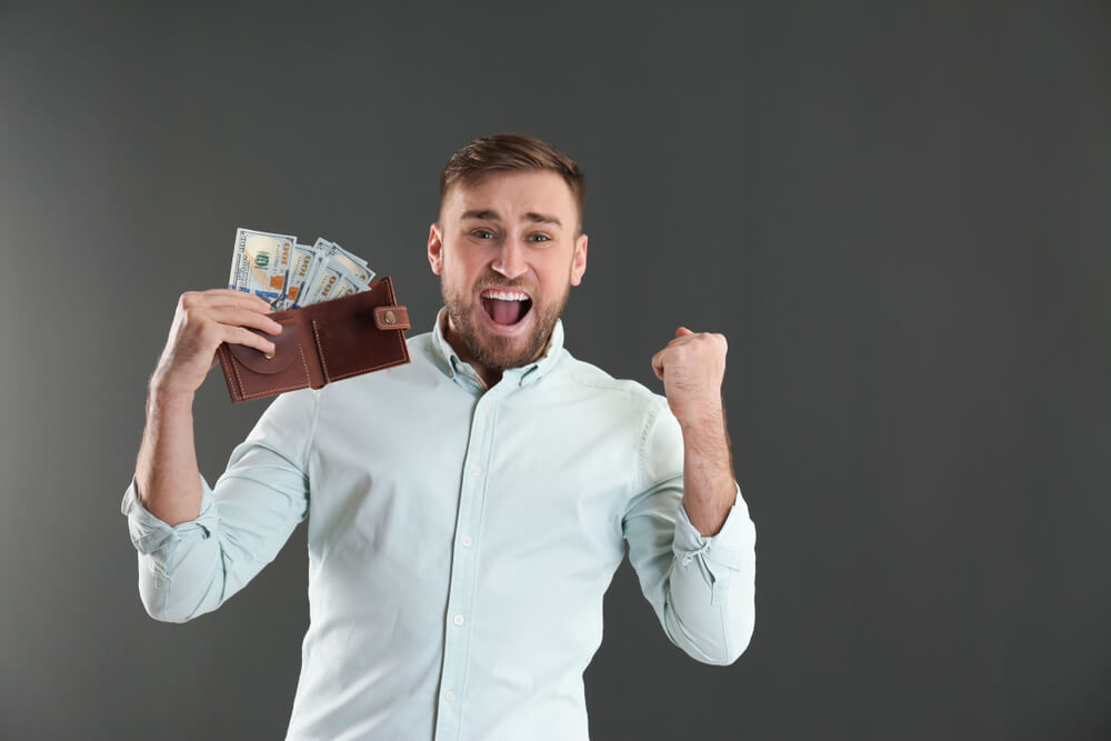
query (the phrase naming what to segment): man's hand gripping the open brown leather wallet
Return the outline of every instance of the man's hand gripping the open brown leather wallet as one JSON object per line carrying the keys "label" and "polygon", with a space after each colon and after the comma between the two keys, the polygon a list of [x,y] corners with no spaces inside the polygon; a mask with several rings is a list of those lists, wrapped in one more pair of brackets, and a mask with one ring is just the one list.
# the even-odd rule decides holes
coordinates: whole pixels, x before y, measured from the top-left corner
{"label": "man's hand gripping the open brown leather wallet", "polygon": [[151,391],[168,397],[193,394],[216,366],[221,342],[273,352],[273,342],[247,329],[280,334],[281,324],[267,317],[269,312],[270,304],[243,291],[214,288],[182,293],[170,337],[150,379]]}

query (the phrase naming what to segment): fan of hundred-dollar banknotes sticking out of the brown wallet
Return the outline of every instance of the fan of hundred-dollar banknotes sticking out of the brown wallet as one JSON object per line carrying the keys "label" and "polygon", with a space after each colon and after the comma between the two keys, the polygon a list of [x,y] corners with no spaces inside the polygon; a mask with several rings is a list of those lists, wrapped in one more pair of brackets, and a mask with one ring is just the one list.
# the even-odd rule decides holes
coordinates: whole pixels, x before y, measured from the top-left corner
{"label": "fan of hundred-dollar banknotes sticking out of the brown wallet", "polygon": [[292,234],[236,231],[228,288],[254,293],[276,311],[369,291],[374,271],[336,242],[298,244]]}

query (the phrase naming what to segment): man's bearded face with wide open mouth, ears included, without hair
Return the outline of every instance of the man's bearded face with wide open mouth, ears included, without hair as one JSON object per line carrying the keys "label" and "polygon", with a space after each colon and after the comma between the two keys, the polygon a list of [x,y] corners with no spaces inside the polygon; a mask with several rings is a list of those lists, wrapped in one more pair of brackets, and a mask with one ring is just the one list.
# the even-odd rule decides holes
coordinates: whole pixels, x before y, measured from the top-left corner
{"label": "man's bearded face with wide open mouth, ears included, without hair", "polygon": [[448,340],[464,360],[502,371],[542,354],[587,270],[578,228],[571,189],[548,170],[496,173],[448,191],[428,259],[448,307]]}

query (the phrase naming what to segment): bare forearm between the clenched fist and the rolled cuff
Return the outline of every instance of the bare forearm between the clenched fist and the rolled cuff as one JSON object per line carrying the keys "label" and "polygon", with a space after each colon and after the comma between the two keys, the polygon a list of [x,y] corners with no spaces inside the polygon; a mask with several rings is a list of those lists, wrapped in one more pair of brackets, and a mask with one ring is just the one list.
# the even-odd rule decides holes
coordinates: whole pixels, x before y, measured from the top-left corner
{"label": "bare forearm between the clenched fist and the rolled cuff", "polygon": [[703,535],[721,530],[735,499],[735,477],[723,408],[680,423],[683,432],[683,508]]}

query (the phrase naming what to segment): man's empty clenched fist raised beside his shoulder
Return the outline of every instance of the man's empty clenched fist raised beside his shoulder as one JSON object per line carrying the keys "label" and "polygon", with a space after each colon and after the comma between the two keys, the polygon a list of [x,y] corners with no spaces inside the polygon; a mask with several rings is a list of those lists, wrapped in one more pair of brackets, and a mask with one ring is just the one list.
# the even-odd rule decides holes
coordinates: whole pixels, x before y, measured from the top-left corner
{"label": "man's empty clenched fist raised beside his shoulder", "polygon": [[652,356],[652,370],[663,381],[668,405],[680,424],[721,419],[727,348],[722,334],[680,327],[675,339]]}

